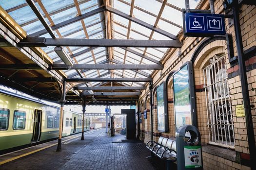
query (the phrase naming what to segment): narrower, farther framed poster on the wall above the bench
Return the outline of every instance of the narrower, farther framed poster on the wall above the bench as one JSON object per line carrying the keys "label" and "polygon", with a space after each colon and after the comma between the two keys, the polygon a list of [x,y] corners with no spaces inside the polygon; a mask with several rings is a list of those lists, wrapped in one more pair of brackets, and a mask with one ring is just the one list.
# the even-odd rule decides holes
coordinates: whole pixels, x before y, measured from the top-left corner
{"label": "narrower, farther framed poster on the wall above the bench", "polygon": [[157,111],[158,111],[158,131],[168,132],[167,95],[166,84],[163,82],[157,88]]}

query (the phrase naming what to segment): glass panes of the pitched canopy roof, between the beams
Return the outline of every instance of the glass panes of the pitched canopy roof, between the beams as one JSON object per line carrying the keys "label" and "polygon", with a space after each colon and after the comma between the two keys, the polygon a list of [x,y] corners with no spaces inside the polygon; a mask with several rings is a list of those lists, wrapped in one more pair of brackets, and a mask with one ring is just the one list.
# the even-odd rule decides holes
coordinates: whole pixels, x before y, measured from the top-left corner
{"label": "glass panes of the pitched canopy roof, between the beams", "polygon": [[[195,8],[199,0],[190,0]],[[177,35],[182,29],[182,8],[185,0],[35,0],[41,15],[50,26],[63,23],[74,17],[108,5],[122,13],[138,18],[163,31]],[[32,11],[26,0],[0,0],[1,7],[20,24],[28,36],[37,34],[44,26]],[[110,25],[110,26],[109,26]],[[108,27],[109,26],[109,27]],[[110,29],[109,29],[110,28]],[[99,12],[79,21],[53,29],[58,38],[90,39],[145,39],[169,40],[131,20],[110,12]],[[108,34],[108,32],[111,32]],[[51,38],[50,34],[40,37]],[[42,48],[55,63],[63,63],[54,47]],[[74,64],[156,64],[168,50],[166,48],[105,48],[105,47],[64,47]],[[145,55],[152,60],[142,58]],[[65,70],[68,77],[114,77],[146,78],[153,70]],[[79,74],[80,72],[81,74]],[[89,83],[89,86],[100,82]],[[141,86],[144,83],[124,82],[126,86]]]}

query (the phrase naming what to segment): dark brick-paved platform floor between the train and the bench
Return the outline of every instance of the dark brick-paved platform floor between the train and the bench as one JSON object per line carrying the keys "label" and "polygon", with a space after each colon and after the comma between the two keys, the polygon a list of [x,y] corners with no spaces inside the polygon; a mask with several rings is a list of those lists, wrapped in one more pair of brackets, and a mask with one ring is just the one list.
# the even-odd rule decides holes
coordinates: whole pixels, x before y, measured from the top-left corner
{"label": "dark brick-paved platform floor between the train and the bench", "polygon": [[105,129],[30,154],[0,166],[0,170],[164,170],[158,158],[146,158],[150,152],[140,141],[125,136],[109,137]]}

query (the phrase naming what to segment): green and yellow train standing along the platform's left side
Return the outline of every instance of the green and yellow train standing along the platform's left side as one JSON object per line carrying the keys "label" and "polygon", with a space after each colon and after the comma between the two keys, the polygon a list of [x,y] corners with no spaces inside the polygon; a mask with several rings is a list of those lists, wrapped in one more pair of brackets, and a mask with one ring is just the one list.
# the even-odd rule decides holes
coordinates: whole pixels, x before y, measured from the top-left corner
{"label": "green and yellow train standing along the platform's left side", "polygon": [[[60,108],[0,90],[0,151],[59,136]],[[85,117],[84,131],[90,119]],[[82,131],[82,115],[64,110],[62,136]]]}

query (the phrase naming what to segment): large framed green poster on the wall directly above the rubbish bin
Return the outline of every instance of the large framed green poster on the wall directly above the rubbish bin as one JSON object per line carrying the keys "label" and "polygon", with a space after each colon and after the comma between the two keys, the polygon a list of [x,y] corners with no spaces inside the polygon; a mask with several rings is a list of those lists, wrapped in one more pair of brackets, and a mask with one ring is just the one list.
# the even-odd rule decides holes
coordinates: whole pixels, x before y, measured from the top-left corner
{"label": "large framed green poster on the wall directly above the rubbish bin", "polygon": [[173,75],[176,129],[185,124],[197,127],[192,62],[186,62]]}

